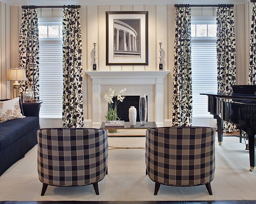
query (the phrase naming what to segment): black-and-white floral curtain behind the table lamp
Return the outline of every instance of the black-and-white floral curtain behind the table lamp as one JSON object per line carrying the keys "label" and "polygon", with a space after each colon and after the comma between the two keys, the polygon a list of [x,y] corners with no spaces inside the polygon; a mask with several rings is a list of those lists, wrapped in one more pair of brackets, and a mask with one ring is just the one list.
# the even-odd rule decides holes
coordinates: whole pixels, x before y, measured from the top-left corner
{"label": "black-and-white floral curtain behind the table lamp", "polygon": [[19,66],[26,70],[27,77],[27,81],[21,85],[21,91],[31,87],[35,99],[39,99],[39,35],[38,13],[35,6],[26,6],[22,10]]}

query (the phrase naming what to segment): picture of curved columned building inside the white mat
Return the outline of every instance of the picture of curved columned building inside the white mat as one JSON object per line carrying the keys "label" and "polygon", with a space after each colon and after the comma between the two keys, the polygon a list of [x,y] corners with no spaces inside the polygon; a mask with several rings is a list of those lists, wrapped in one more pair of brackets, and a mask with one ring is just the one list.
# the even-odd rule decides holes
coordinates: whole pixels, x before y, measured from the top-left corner
{"label": "picture of curved columned building inside the white mat", "polygon": [[114,57],[140,57],[140,20],[114,20]]}

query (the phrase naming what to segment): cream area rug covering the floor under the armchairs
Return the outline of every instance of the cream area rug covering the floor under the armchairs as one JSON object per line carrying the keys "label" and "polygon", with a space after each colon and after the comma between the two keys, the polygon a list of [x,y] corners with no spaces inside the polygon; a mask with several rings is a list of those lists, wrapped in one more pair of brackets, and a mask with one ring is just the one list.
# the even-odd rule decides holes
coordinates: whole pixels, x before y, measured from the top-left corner
{"label": "cream area rug covering the floor under the armchairs", "polygon": [[[110,146],[141,147],[144,138],[109,138]],[[154,195],[154,182],[145,175],[145,150],[109,150],[108,175],[99,182],[99,195],[92,185],[82,187],[48,186],[41,196],[37,174],[37,146],[0,176],[0,201],[207,201],[256,200],[256,170],[249,172],[249,153],[239,138],[216,141],[216,171],[213,195],[205,186],[171,187],[161,185]]]}

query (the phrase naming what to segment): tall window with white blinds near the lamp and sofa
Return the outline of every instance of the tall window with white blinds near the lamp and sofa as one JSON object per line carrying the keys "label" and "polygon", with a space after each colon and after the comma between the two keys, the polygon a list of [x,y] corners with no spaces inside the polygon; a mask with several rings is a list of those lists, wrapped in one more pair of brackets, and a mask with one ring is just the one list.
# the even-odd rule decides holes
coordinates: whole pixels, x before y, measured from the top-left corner
{"label": "tall window with white blinds near the lamp and sofa", "polygon": [[62,19],[39,18],[41,118],[62,117]]}

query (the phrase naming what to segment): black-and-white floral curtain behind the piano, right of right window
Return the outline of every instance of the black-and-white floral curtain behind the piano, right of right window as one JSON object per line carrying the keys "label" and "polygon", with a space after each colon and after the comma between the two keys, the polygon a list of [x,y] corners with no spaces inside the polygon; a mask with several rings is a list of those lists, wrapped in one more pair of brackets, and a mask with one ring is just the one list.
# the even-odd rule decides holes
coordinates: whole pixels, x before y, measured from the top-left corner
{"label": "black-and-white floral curtain behind the piano, right of right window", "polygon": [[[231,94],[236,84],[236,38],[233,6],[219,5],[217,9],[217,71],[218,92]],[[237,130],[224,122],[224,132]]]}

